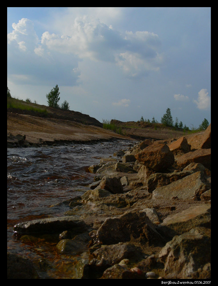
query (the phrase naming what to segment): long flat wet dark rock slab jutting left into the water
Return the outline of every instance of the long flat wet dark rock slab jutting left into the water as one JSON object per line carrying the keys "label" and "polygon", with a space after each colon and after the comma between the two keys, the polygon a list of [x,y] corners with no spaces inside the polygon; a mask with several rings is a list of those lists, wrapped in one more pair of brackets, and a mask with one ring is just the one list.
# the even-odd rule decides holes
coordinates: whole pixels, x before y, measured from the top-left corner
{"label": "long flat wet dark rock slab jutting left into the water", "polygon": [[78,217],[64,216],[18,223],[13,230],[16,234],[58,233],[66,230],[79,233],[86,230],[86,225]]}

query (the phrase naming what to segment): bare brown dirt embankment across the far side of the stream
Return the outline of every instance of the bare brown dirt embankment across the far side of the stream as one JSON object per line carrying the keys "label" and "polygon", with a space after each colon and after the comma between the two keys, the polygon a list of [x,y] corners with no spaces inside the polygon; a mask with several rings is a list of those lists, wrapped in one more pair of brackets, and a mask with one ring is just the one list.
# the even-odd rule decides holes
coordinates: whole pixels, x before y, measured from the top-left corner
{"label": "bare brown dirt embankment across the far side of the stream", "polygon": [[[122,138],[127,140],[165,140],[183,136],[183,131],[163,128],[161,124],[114,121],[123,135],[103,129],[103,124],[87,114],[37,105],[46,113],[8,108],[7,143],[15,146],[17,134],[25,135],[30,144],[53,144],[55,142],[96,142]],[[10,145],[8,145],[10,146]],[[12,147],[11,146],[11,147]],[[19,146],[19,144],[18,144]]]}

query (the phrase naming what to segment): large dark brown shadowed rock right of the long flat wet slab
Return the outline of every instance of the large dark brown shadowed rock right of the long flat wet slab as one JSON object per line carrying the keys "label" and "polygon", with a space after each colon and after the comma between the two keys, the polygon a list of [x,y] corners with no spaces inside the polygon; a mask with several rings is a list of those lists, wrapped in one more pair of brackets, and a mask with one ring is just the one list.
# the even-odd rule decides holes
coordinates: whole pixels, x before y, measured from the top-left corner
{"label": "large dark brown shadowed rock right of the long flat wet slab", "polygon": [[99,242],[111,245],[119,242],[140,239],[151,245],[163,243],[163,238],[156,231],[145,212],[127,211],[119,217],[107,218],[98,229]]}

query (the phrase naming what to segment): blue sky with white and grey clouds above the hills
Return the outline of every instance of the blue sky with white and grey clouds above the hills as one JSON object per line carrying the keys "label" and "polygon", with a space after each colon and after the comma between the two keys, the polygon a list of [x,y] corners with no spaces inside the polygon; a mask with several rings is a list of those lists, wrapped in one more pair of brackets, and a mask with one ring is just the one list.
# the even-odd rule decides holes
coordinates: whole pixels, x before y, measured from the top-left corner
{"label": "blue sky with white and grey clouds above the hills", "polygon": [[11,96],[103,120],[211,122],[211,7],[7,7]]}

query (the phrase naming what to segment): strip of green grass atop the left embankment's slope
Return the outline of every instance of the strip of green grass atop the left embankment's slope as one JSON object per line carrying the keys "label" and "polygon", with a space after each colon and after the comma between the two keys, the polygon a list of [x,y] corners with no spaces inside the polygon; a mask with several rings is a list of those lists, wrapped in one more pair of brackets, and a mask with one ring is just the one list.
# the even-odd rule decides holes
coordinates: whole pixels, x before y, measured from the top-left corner
{"label": "strip of green grass atop the left embankment's slope", "polygon": [[30,102],[25,102],[17,98],[7,98],[7,108],[18,108],[21,110],[29,110],[29,111],[39,112],[44,115],[48,113],[46,109],[35,107]]}

